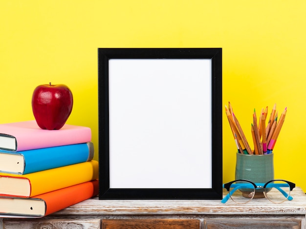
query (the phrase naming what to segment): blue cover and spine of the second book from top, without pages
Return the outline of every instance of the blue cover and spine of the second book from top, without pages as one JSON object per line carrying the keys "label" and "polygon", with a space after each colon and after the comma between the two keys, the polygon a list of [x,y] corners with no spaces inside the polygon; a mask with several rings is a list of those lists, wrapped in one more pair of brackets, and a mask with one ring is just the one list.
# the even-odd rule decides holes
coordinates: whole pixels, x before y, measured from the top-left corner
{"label": "blue cover and spine of the second book from top, without pages", "polygon": [[91,161],[93,151],[91,142],[22,151],[23,174]]}

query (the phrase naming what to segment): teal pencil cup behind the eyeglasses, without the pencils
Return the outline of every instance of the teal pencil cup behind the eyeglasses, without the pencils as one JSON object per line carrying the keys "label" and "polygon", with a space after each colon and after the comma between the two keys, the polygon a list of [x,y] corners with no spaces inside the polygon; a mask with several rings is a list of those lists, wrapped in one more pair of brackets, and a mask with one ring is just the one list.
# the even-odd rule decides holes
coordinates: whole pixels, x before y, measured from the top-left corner
{"label": "teal pencil cup behind the eyeglasses, without the pencils", "polygon": [[[273,153],[263,155],[250,155],[237,153],[235,180],[249,180],[253,183],[263,183],[274,180]],[[243,192],[249,197],[248,192]],[[263,188],[257,188],[253,198],[263,198]]]}

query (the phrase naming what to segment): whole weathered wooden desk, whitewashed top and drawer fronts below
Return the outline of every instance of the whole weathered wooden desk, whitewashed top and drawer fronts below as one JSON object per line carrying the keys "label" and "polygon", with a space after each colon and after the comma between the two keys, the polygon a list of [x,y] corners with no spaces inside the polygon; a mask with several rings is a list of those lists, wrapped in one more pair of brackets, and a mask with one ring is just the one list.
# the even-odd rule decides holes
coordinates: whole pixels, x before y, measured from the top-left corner
{"label": "whole weathered wooden desk, whitewashed top and drawer fronts below", "polygon": [[[262,198],[243,205],[231,200],[221,204],[220,200],[98,200],[95,197],[41,219],[1,219],[0,229],[119,229],[136,228],[135,225],[176,229],[181,228],[180,224],[190,225],[184,227],[191,229],[195,222],[199,229],[306,229],[306,195],[300,187],[294,188],[291,195],[293,200],[282,204]],[[126,223],[122,224],[122,220]],[[148,226],[150,222],[152,227]],[[165,222],[172,226],[161,226],[167,225]],[[122,226],[130,223],[133,226]]]}

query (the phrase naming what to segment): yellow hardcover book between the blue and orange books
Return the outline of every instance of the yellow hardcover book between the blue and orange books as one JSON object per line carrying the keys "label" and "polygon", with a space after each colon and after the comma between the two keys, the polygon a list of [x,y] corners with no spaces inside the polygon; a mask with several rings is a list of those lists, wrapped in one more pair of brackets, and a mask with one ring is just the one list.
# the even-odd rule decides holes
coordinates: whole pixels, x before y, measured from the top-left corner
{"label": "yellow hardcover book between the blue and orange books", "polygon": [[52,168],[25,175],[0,173],[0,196],[33,197],[98,179],[97,161]]}

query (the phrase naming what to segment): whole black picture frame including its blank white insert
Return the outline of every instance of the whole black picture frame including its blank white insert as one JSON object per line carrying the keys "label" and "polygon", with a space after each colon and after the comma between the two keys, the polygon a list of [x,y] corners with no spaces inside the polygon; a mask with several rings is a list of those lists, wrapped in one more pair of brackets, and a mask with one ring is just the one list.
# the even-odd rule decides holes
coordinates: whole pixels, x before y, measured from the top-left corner
{"label": "whole black picture frame including its blank white insert", "polygon": [[[170,70],[168,69],[167,61],[169,61],[169,63],[173,64],[174,66],[172,67],[171,65],[171,67],[169,67]],[[147,63],[149,67],[143,67]],[[165,69],[164,67],[162,67],[162,69],[159,69],[158,67],[159,63],[166,65]],[[205,66],[207,65],[207,67],[202,67],[202,63],[205,64]],[[187,73],[181,73],[181,70],[176,69],[175,67],[177,66],[177,68],[180,68],[181,65],[184,64],[186,64],[186,67],[183,67],[183,71],[186,70]],[[158,74],[156,74],[155,72],[156,68],[160,70],[157,71]],[[170,74],[160,73],[160,72],[167,72],[168,70],[170,71]],[[159,76],[159,74],[165,74],[165,76],[162,75],[162,78],[159,77],[156,80],[156,82],[155,80],[152,81],[152,79],[155,79],[157,77],[152,78],[150,76],[151,78],[147,82],[146,77],[149,79],[150,74],[155,74],[154,76],[157,75]],[[193,78],[194,75],[195,79]],[[164,80],[165,78],[167,78],[169,84],[165,83],[165,81],[167,81]],[[184,79],[180,80],[181,78]],[[207,78],[209,78],[209,81],[207,81]],[[200,83],[197,82],[198,79]],[[138,80],[140,81],[140,83],[138,83]],[[195,83],[191,83],[190,81],[195,81]],[[133,98],[141,98],[142,93],[144,93],[149,99],[147,99],[146,97],[145,99],[146,104],[144,104],[143,106],[145,107],[148,106],[147,109],[150,110],[150,107],[154,107],[153,103],[155,102],[152,102],[151,104],[151,102],[149,103],[148,101],[151,100],[154,101],[155,96],[157,96],[157,94],[159,95],[159,91],[165,91],[165,95],[161,95],[161,98],[159,98],[160,100],[162,100],[162,98],[165,98],[168,95],[169,97],[170,95],[172,96],[171,91],[175,87],[173,85],[174,84],[176,85],[177,82],[179,82],[178,84],[180,87],[179,89],[176,88],[175,92],[180,93],[180,91],[184,91],[185,94],[177,95],[178,97],[176,97],[175,95],[175,97],[172,98],[180,98],[180,100],[185,101],[184,98],[186,97],[186,95],[188,97],[188,95],[194,93],[194,91],[197,91],[199,95],[197,96],[197,94],[195,94],[195,97],[197,98],[203,97],[203,98],[199,98],[199,103],[197,103],[197,99],[195,99],[196,102],[194,101],[192,102],[193,106],[191,110],[193,111],[193,108],[195,108],[196,112],[190,112],[191,114],[189,114],[189,112],[187,111],[186,112],[187,120],[185,120],[185,116],[183,116],[180,119],[181,121],[179,122],[184,123],[184,126],[187,126],[186,127],[187,130],[185,131],[185,129],[182,128],[179,129],[179,131],[177,131],[176,128],[174,128],[174,130],[169,128],[171,129],[169,131],[172,131],[169,132],[171,134],[166,135],[166,137],[162,138],[162,140],[168,138],[169,136],[176,135],[177,132],[180,133],[188,132],[192,137],[189,136],[190,143],[187,142],[186,145],[189,148],[189,146],[194,146],[194,145],[197,146],[198,144],[198,146],[193,151],[197,151],[197,149],[199,148],[199,152],[193,154],[193,151],[190,150],[192,152],[188,152],[188,148],[186,147],[187,148],[186,154],[180,154],[185,152],[183,150],[182,152],[175,154],[175,155],[183,155],[183,159],[178,160],[178,166],[181,167],[181,170],[183,170],[184,173],[187,173],[187,176],[185,180],[184,179],[180,180],[180,178],[178,178],[179,185],[174,184],[174,187],[171,186],[168,187],[168,183],[171,183],[170,181],[173,180],[171,179],[171,176],[173,176],[173,174],[165,175],[166,177],[165,181],[162,181],[161,184],[159,184],[159,181],[164,179],[163,178],[164,172],[160,172],[159,169],[163,167],[164,164],[166,164],[165,167],[168,167],[167,164],[169,164],[174,167],[173,170],[177,169],[176,168],[177,165],[172,165],[172,164],[174,159],[175,160],[176,158],[179,159],[179,156],[176,157],[175,155],[171,154],[169,155],[168,158],[167,157],[168,155],[165,155],[167,154],[167,150],[165,150],[165,152],[163,152],[163,155],[158,156],[159,157],[158,159],[151,160],[152,154],[150,154],[151,157],[149,156],[146,157],[146,152],[144,152],[146,150],[142,149],[151,148],[151,146],[153,145],[154,147],[158,146],[159,141],[161,140],[157,137],[156,139],[154,139],[155,136],[159,135],[156,134],[158,130],[156,130],[155,135],[154,134],[149,135],[150,139],[148,139],[148,142],[150,142],[149,143],[151,144],[150,146],[145,145],[147,139],[146,141],[139,141],[139,138],[142,139],[143,135],[145,134],[142,133],[139,134],[138,133],[139,131],[137,132],[136,130],[135,133],[130,133],[131,129],[134,129],[133,127],[131,128],[131,126],[137,125],[138,128],[137,122],[139,119],[141,119],[141,122],[144,122],[144,124],[139,124],[140,129],[142,125],[151,125],[150,123],[152,121],[152,117],[160,116],[160,112],[158,111],[160,110],[160,107],[156,105],[156,109],[154,109],[154,112],[156,110],[156,115],[151,116],[151,119],[147,120],[148,122],[145,122],[146,119],[142,119],[143,115],[133,117],[134,114],[138,114],[137,113],[138,111],[139,113],[143,112],[142,105],[139,106],[138,104],[140,103],[138,99],[136,99],[137,103],[135,102],[135,104],[132,105],[130,105],[130,103],[134,102]],[[210,82],[210,83],[205,83],[205,82]],[[143,84],[146,84],[146,86],[144,86]],[[166,84],[166,89],[163,88],[165,84]],[[185,84],[188,84],[190,86],[187,89],[185,89]],[[198,84],[200,84],[200,86],[198,86]],[[150,97],[151,94],[150,92],[147,91],[148,90],[150,91],[152,87],[156,85],[157,89],[152,90],[153,93],[151,93],[151,94],[154,93],[156,94],[152,95],[151,99]],[[139,88],[142,87],[144,88],[141,91],[137,91]],[[194,87],[196,89],[194,89]],[[130,96],[130,94],[132,93],[135,93],[138,96],[135,95]],[[186,99],[186,101],[184,102],[184,106],[189,107],[189,102],[188,102],[190,101],[189,99],[190,98]],[[163,101],[161,101],[161,103],[163,103]],[[178,103],[178,106],[179,104],[180,103]],[[204,107],[205,104],[206,106]],[[186,109],[181,109],[181,107],[178,106],[174,109],[180,109],[178,113],[181,113],[181,111],[185,113]],[[221,116],[222,48],[98,48],[98,107],[99,107],[99,114],[98,114],[99,147],[98,148],[99,148],[99,199],[100,200],[222,199],[222,116]],[[166,105],[165,107],[167,107],[168,109],[168,105]],[[133,110],[130,112],[130,109]],[[166,112],[167,111],[168,110],[166,110]],[[170,112],[172,112],[172,110]],[[194,119],[193,115],[194,113],[197,112],[200,115],[201,112],[205,113],[207,112],[208,118],[206,118],[207,120],[202,121],[201,116],[197,117],[198,118],[197,122],[200,123],[200,125],[197,125],[197,123],[192,124],[192,126],[194,126],[193,127],[194,129],[190,130],[189,129],[190,125],[188,122]],[[171,117],[174,116],[176,117],[176,114],[177,113],[174,113],[174,115],[172,115]],[[204,116],[206,117],[206,115]],[[162,117],[163,116],[161,115],[160,122],[162,122],[161,121],[163,119]],[[203,119],[205,119],[205,117],[203,117]],[[130,124],[127,123],[130,123],[131,119],[132,119],[132,124],[130,126]],[[121,121],[122,124],[118,124]],[[170,122],[172,122],[172,120],[170,120]],[[185,122],[187,123],[186,125]],[[209,125],[208,128],[206,128],[207,125]],[[152,128],[150,126],[150,128],[144,128],[143,131],[146,132],[148,129],[153,129],[153,128],[154,126]],[[163,125],[161,125],[159,128],[163,128]],[[166,131],[168,131],[168,129]],[[197,131],[199,134],[197,134]],[[125,133],[123,135],[123,138],[118,137],[118,135],[121,135],[121,133]],[[209,144],[205,144],[205,146],[203,146],[204,138],[202,137],[202,134],[203,136],[204,135],[206,137],[208,136],[207,138],[210,139],[209,141],[207,141],[207,143]],[[200,137],[198,137],[198,135],[200,135]],[[152,139],[154,139],[153,144],[152,144]],[[183,137],[182,139],[183,141],[180,142],[184,142],[185,137]],[[134,154],[134,151],[137,151],[135,150],[137,144],[144,145],[144,148],[140,147],[139,152],[137,152],[137,154]],[[166,148],[168,147],[167,144],[168,142],[165,141],[164,145],[162,145],[161,147]],[[174,147],[173,145],[174,143],[169,141],[170,149]],[[130,149],[130,146],[132,147],[135,146],[135,147],[131,151],[128,151],[128,149]],[[155,150],[154,152],[156,154],[159,153],[159,151],[157,152],[157,150]],[[188,158],[189,155],[191,155],[190,157],[193,157],[192,159],[194,160],[192,159],[189,160]],[[151,161],[152,163],[151,164],[147,163],[147,161]],[[190,167],[186,166],[185,161],[191,162],[191,166]],[[193,165],[193,163],[196,163],[196,161],[200,162],[199,166],[197,166],[197,164]],[[201,162],[203,162],[203,164],[201,164]],[[206,163],[210,163],[210,165],[206,166],[207,165]],[[146,164],[145,167],[141,167],[142,164]],[[145,173],[144,170],[146,170],[146,167],[150,167],[150,169],[148,169],[150,170],[149,174],[151,175],[152,172],[154,177],[150,177],[150,179],[149,176],[148,179],[146,179],[146,177],[137,178],[138,175],[137,176],[133,175],[134,171],[133,172],[131,171],[131,174],[129,174],[130,169],[132,170],[135,167],[136,167],[135,170],[139,170],[139,173],[141,174]],[[194,173],[191,172],[190,174],[188,174],[189,168],[192,167],[197,167],[197,169],[200,170],[196,169]],[[202,172],[202,169],[208,172]],[[181,172],[181,170],[177,169],[178,172]],[[119,175],[113,175],[113,174],[119,174]],[[158,179],[155,179],[155,174],[158,175],[158,176],[156,175]],[[174,175],[173,177],[175,176],[176,175]],[[183,177],[184,174],[180,174],[178,175],[178,177],[179,176]],[[196,177],[195,181],[192,182],[190,185],[187,185],[187,187],[185,187],[184,186],[185,181],[189,180],[189,178],[191,177]],[[205,181],[202,181],[202,178]],[[127,183],[125,183],[126,180],[128,180]],[[147,180],[150,181],[148,187],[146,185],[142,187],[142,184],[146,183]],[[156,182],[156,187],[154,186],[155,182]],[[197,186],[198,183],[199,186]]]}

